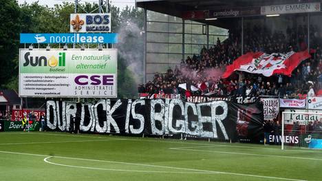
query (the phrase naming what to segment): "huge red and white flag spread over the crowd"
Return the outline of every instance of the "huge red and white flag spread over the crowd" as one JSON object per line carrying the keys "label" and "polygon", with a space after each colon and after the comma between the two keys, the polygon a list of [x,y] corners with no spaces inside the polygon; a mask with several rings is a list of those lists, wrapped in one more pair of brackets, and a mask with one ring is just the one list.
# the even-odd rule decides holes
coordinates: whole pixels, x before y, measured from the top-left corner
{"label": "huge red and white flag spread over the crowd", "polygon": [[297,53],[288,52],[287,54],[249,52],[239,56],[232,65],[228,65],[222,78],[228,78],[236,70],[252,74],[263,74],[264,76],[272,76],[273,74],[291,76],[297,65],[310,57],[308,50]]}

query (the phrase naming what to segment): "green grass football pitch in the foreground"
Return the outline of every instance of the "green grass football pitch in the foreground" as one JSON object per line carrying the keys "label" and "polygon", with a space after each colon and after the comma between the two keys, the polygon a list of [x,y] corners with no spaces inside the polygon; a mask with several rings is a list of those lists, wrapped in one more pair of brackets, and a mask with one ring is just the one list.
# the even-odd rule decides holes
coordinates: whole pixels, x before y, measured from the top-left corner
{"label": "green grass football pitch in the foreground", "polygon": [[0,133],[0,180],[322,180],[322,151],[54,132]]}

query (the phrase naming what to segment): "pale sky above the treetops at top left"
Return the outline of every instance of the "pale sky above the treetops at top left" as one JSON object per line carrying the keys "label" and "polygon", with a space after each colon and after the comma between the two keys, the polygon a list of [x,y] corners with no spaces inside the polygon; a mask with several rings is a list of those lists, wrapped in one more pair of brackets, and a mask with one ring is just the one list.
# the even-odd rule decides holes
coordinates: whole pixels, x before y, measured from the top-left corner
{"label": "pale sky above the treetops at top left", "polygon": [[[33,3],[34,1],[39,1],[40,5],[48,5],[53,7],[54,4],[63,3],[63,1],[74,3],[75,0],[18,0],[18,3]],[[89,2],[89,3],[98,3],[98,0],[78,0],[79,3]],[[135,6],[135,0],[109,0],[112,5],[119,7],[120,9],[125,8],[125,6]]]}

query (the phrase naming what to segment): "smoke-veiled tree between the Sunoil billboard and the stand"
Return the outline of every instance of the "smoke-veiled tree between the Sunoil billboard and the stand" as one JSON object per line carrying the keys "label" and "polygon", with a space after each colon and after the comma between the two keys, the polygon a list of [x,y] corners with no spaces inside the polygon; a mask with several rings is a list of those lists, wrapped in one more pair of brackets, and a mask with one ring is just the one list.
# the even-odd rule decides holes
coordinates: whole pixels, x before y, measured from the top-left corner
{"label": "smoke-veiled tree between the Sunoil billboard and the stand", "polygon": [[[118,32],[118,96],[137,97],[137,85],[142,83],[144,38],[143,10],[126,7],[120,12]],[[123,67],[124,66],[124,67]],[[122,82],[120,82],[122,80]]]}

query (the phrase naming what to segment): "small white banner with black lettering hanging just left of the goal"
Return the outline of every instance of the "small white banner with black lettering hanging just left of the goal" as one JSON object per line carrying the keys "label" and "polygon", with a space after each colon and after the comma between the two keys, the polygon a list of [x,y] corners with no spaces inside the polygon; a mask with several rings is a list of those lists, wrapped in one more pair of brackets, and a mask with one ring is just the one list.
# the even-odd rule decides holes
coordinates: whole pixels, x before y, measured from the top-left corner
{"label": "small white banner with black lettering hanging just left of the goal", "polygon": [[274,120],[279,115],[278,98],[261,98],[264,109],[264,120]]}

